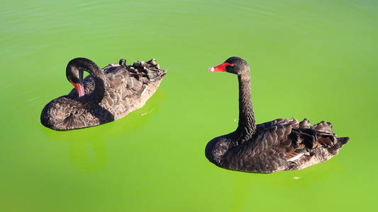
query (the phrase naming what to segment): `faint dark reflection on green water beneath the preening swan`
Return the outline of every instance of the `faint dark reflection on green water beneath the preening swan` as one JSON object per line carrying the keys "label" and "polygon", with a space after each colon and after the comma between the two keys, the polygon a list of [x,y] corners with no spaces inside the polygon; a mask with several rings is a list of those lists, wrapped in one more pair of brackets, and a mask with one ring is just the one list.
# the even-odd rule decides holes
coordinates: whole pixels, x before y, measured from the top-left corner
{"label": "faint dark reflection on green water beneath the preening swan", "polygon": [[127,134],[148,124],[152,114],[159,112],[159,102],[165,100],[165,93],[158,89],[139,110],[126,117],[100,126],[71,131],[55,131],[40,125],[43,134],[51,141],[70,143],[70,162],[77,170],[97,172],[106,168],[108,151],[106,140],[109,137]]}

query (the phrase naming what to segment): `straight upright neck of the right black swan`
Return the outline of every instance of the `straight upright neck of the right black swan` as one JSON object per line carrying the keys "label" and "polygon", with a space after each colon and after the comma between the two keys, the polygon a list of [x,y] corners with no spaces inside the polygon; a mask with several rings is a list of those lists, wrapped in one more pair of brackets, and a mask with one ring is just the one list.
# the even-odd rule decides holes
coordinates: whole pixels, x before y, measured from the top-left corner
{"label": "straight upright neck of the right black swan", "polygon": [[243,140],[248,140],[255,134],[255,114],[251,100],[250,71],[238,75],[239,81],[239,124],[236,131]]}

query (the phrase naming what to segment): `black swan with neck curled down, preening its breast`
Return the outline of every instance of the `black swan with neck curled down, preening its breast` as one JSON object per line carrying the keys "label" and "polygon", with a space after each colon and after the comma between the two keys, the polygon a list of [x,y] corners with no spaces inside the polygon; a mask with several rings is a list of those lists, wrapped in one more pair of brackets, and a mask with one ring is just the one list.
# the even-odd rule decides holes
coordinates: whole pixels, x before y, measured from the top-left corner
{"label": "black swan with neck curled down, preening its breast", "polygon": [[[83,71],[90,74],[83,80]],[[167,70],[155,59],[126,65],[109,64],[100,69],[87,58],[75,58],[67,64],[68,81],[76,89],[46,105],[40,122],[56,130],[79,129],[113,122],[145,105],[155,93]]]}

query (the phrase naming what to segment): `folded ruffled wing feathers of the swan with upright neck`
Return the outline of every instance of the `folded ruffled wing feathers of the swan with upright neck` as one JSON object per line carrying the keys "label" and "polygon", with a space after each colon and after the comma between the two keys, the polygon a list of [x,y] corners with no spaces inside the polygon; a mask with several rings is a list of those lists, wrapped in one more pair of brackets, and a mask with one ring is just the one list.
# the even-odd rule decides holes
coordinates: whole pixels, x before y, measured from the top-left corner
{"label": "folded ruffled wing feathers of the swan with upright neck", "polygon": [[[312,156],[316,148],[328,148],[337,154],[349,138],[338,138],[330,122],[311,125],[308,119],[276,119],[257,125],[256,151],[284,155],[287,161],[296,161],[303,156]],[[334,152],[334,153],[333,153]]]}

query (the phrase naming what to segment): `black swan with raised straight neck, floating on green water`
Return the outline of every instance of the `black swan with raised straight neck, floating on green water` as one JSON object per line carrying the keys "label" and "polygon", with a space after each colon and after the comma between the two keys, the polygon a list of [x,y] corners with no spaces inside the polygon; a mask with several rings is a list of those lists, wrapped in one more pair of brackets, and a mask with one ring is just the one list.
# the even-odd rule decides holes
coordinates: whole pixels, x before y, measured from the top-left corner
{"label": "black swan with raised straight neck, floating on green water", "polygon": [[205,150],[206,158],[218,167],[261,173],[300,170],[329,160],[349,141],[338,138],[330,122],[311,125],[308,119],[292,118],[256,125],[247,61],[230,57],[209,71],[234,73],[239,81],[238,128],[212,139]]}

